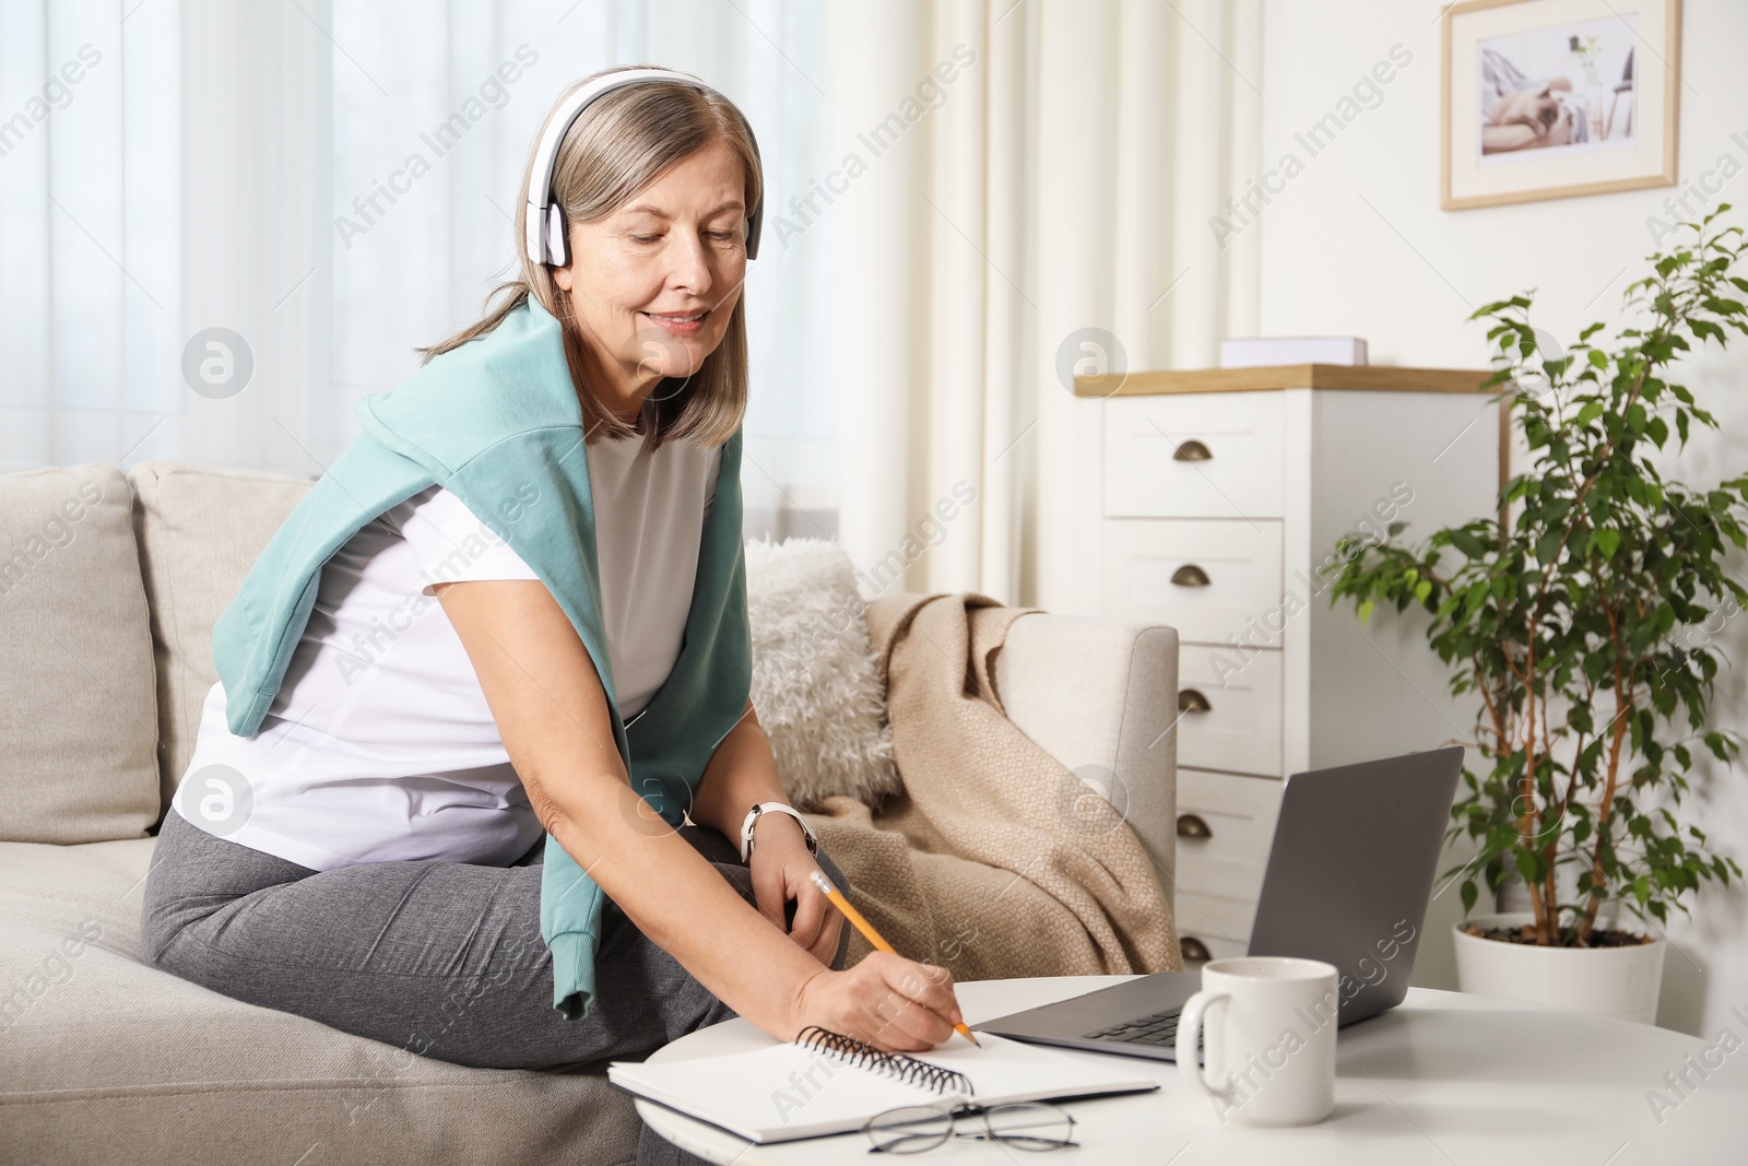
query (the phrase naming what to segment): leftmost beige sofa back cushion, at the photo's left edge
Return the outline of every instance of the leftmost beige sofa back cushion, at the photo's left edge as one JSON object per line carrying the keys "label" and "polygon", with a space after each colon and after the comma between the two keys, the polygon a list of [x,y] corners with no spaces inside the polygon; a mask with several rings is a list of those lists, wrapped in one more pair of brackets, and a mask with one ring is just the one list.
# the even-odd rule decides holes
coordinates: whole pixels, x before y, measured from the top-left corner
{"label": "leftmost beige sofa back cushion, at the photo's left edge", "polygon": [[152,633],[128,479],[0,477],[0,841],[140,837],[157,820]]}

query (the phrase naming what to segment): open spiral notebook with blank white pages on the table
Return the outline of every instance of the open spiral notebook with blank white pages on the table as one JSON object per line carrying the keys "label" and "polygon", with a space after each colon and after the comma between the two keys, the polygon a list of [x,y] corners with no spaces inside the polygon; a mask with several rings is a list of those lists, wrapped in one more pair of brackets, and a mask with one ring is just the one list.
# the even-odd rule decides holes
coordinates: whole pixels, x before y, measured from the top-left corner
{"label": "open spiral notebook with blank white pages on the table", "polygon": [[981,1049],[953,1038],[918,1054],[881,1052],[823,1028],[795,1044],[690,1061],[614,1061],[621,1089],[680,1110],[748,1142],[792,1142],[860,1129],[900,1105],[963,1100],[977,1105],[1087,1098],[1157,1089],[1092,1058],[977,1033]]}

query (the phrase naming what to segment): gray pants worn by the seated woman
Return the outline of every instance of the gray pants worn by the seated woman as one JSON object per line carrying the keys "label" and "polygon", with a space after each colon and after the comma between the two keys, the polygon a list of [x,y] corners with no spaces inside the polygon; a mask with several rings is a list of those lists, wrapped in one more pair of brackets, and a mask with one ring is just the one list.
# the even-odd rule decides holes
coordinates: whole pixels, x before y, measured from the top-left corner
{"label": "gray pants worn by the seated woman", "polygon": [[[680,836],[753,902],[717,830]],[[371,862],[311,871],[164,815],[145,883],[145,960],[248,1003],[294,1012],[440,1061],[545,1068],[642,1059],[734,1012],[610,899],[589,1016],[552,1007],[537,843],[509,867]],[[839,886],[843,871],[820,855]],[[843,928],[832,967],[850,944]],[[647,1128],[638,1163],[690,1163]]]}

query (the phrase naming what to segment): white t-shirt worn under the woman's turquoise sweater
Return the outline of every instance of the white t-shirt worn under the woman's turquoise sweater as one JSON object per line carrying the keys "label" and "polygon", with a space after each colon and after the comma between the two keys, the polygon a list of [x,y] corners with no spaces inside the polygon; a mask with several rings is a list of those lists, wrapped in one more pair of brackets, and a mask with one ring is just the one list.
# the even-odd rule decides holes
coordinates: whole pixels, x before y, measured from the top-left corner
{"label": "white t-shirt worn under the woman's turquoise sweater", "polygon": [[[722,451],[669,441],[650,453],[628,437],[587,458],[608,663],[631,720],[680,654]],[[224,685],[208,691],[177,811],[316,871],[524,855],[540,822],[428,589],[482,579],[537,575],[440,486],[360,528],[322,568],[260,732],[234,736]]]}

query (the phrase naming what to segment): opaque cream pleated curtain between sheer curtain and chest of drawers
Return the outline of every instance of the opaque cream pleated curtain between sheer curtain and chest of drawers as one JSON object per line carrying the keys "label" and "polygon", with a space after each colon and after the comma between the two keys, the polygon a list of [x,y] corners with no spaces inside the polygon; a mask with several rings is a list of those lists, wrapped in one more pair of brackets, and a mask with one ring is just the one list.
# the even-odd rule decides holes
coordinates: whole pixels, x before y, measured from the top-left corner
{"label": "opaque cream pleated curtain between sheer curtain and chest of drawers", "polygon": [[1082,329],[1129,369],[1211,364],[1255,329],[1259,233],[1222,250],[1208,217],[1255,173],[1259,7],[834,3],[837,152],[865,161],[832,208],[864,586],[1079,605],[1098,409],[1058,362],[1096,355]]}

